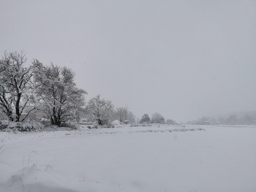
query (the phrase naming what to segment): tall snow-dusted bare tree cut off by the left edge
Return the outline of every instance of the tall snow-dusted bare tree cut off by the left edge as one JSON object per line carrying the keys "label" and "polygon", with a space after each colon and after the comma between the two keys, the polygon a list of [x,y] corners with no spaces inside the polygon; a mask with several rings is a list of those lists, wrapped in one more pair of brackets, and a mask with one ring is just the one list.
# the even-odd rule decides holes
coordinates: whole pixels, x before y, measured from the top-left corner
{"label": "tall snow-dusted bare tree cut off by the left edge", "polygon": [[34,69],[33,66],[25,67],[26,61],[23,51],[5,51],[0,60],[0,108],[10,121],[19,122],[26,118],[20,119],[20,116],[31,99],[30,82]]}

